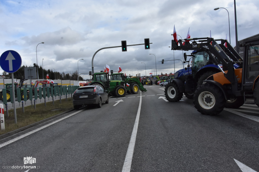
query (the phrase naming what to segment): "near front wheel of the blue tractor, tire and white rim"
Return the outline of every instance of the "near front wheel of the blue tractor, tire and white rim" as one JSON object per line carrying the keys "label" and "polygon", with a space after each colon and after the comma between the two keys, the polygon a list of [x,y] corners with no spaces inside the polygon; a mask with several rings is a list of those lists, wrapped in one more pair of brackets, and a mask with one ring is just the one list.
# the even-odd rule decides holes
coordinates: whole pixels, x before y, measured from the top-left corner
{"label": "near front wheel of the blue tractor, tire and white rim", "polygon": [[178,85],[175,82],[169,82],[164,89],[164,95],[170,102],[176,102],[183,98],[183,93],[180,92]]}

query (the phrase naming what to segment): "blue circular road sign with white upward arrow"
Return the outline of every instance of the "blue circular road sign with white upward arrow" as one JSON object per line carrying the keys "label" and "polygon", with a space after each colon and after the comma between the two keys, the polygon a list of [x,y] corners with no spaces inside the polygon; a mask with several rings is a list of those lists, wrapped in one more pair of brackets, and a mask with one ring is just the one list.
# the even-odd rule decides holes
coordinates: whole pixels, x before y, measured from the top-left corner
{"label": "blue circular road sign with white upward arrow", "polygon": [[8,73],[18,71],[21,67],[21,56],[13,50],[5,51],[0,57],[1,68]]}

